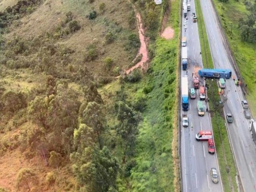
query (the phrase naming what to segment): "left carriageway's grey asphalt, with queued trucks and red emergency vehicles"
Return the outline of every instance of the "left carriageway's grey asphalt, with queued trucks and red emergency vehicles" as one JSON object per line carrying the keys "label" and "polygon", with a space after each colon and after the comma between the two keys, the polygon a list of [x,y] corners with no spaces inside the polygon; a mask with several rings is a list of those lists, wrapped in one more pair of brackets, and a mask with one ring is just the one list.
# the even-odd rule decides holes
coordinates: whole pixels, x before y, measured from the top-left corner
{"label": "left carriageway's grey asphalt, with queued trucks and red emergency vehicles", "polygon": [[[182,15],[182,36],[187,38],[188,47],[188,88],[193,88],[192,73],[202,68],[202,58],[200,55],[200,42],[198,36],[197,23],[192,21],[192,11],[195,10],[194,0],[191,0],[191,11],[188,12],[187,30],[184,30],[184,17]],[[180,76],[186,76],[186,71],[182,70],[180,64]],[[181,79],[180,77],[180,79]],[[200,78],[200,85],[204,84],[204,80]],[[181,97],[181,94],[180,94]],[[180,98],[182,101],[182,98]],[[214,184],[211,180],[210,169],[212,167],[218,168],[216,154],[208,153],[207,141],[196,141],[195,135],[200,130],[211,130],[210,115],[205,112],[205,115],[198,116],[197,101],[199,100],[199,90],[196,90],[196,99],[189,99],[189,110],[182,111],[182,104],[180,103],[180,120],[182,120],[182,113],[188,114],[189,127],[184,128],[181,124],[181,174],[182,174],[182,191],[183,192],[221,192],[222,184]],[[206,109],[206,103],[203,101]],[[218,152],[217,152],[218,153]]]}

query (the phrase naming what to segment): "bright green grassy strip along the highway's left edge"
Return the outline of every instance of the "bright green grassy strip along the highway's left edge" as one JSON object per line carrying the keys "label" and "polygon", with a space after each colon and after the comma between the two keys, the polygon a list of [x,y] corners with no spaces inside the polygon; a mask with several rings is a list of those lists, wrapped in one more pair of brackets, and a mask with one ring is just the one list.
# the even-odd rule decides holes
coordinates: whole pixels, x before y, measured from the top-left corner
{"label": "bright green grassy strip along the highway's left edge", "polygon": [[[175,188],[174,158],[172,156],[172,140],[176,127],[173,125],[178,102],[177,64],[179,44],[179,2],[171,3],[171,26],[175,30],[174,39],[156,40],[156,57],[151,69],[153,72],[141,82],[136,97],[145,95],[145,88],[153,88],[146,95],[147,109],[143,113],[144,121],[140,128],[136,161],[132,169],[132,191],[162,192],[179,190]],[[176,139],[176,138],[175,138]],[[154,170],[155,171],[152,171]],[[179,187],[179,184],[176,187]]]}

